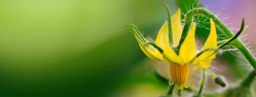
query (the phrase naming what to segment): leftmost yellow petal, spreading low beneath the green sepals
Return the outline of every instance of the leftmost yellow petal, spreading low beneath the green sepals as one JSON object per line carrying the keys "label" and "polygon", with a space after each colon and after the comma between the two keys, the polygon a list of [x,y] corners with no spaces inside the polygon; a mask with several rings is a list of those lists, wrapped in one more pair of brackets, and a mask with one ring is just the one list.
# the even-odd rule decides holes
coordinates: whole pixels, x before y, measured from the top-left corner
{"label": "leftmost yellow petal, spreading low beneath the green sepals", "polygon": [[[148,56],[152,60],[163,60],[163,59],[161,59],[163,57],[163,55],[160,53],[160,51],[158,51],[153,46],[145,46],[145,44],[140,40],[140,38],[137,35],[135,35],[135,38],[137,39],[137,41],[140,45],[140,49],[145,53],[146,56]],[[149,42],[149,40],[147,40],[147,39],[145,39],[145,40],[147,42]],[[148,47],[150,47],[150,48],[148,48]]]}

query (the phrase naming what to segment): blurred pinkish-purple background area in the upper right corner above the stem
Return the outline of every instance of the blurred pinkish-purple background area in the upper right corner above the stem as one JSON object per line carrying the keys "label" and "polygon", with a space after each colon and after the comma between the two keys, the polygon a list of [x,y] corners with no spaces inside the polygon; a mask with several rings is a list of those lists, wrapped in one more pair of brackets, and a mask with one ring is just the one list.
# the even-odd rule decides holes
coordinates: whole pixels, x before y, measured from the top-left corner
{"label": "blurred pinkish-purple background area in the upper right corner above the stem", "polygon": [[201,0],[204,7],[225,23],[234,33],[240,29],[242,18],[244,17],[245,26],[249,26],[242,35],[248,35],[250,46],[256,48],[256,0]]}

